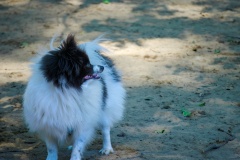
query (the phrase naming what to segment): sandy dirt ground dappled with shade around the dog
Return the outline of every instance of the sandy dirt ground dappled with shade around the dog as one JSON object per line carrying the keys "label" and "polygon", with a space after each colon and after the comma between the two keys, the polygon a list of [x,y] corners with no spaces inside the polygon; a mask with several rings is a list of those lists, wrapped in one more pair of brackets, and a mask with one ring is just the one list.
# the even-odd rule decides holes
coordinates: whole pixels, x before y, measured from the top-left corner
{"label": "sandy dirt ground dappled with shade around the dog", "polygon": [[240,159],[239,0],[1,0],[0,160],[46,158],[22,95],[29,60],[69,33],[79,43],[108,33],[128,92],[115,152],[98,153],[97,132],[84,159]]}

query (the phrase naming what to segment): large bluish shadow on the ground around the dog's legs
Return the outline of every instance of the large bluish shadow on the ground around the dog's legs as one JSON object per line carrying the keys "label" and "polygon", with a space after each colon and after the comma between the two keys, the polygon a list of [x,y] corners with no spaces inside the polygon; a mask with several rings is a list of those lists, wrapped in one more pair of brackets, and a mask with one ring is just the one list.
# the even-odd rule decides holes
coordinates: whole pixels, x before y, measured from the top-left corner
{"label": "large bluish shadow on the ground around the dog's legs", "polygon": [[[44,143],[28,133],[23,123],[22,107],[18,106],[18,103],[21,103],[24,88],[25,84],[21,82],[1,86],[0,138],[1,145],[4,145],[0,150],[2,159],[45,159],[46,157]],[[234,119],[240,113],[236,106],[238,99],[231,96],[230,99],[221,98],[222,95],[216,93],[217,87],[204,86],[200,89],[204,89],[208,94],[196,97],[199,88],[189,91],[170,84],[127,87],[124,120],[112,129],[115,153],[109,156],[101,156],[98,153],[102,142],[101,134],[97,132],[95,140],[84,154],[85,159],[189,158],[184,156],[185,152],[191,153],[192,158],[203,158],[207,155],[209,146],[226,144],[234,140],[235,127],[238,125]],[[8,99],[2,102],[6,97]],[[217,102],[214,100],[217,99],[223,104],[216,105]],[[228,103],[229,101],[231,103]],[[204,106],[199,106],[203,102],[205,102]],[[183,108],[192,115],[184,117]],[[212,116],[214,118],[211,118],[211,121],[206,121]],[[67,147],[62,147],[59,157],[68,159],[70,153]]]}

